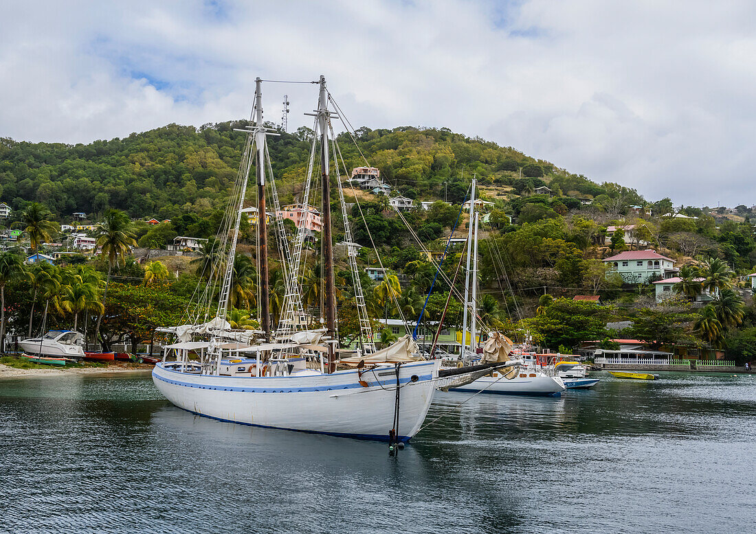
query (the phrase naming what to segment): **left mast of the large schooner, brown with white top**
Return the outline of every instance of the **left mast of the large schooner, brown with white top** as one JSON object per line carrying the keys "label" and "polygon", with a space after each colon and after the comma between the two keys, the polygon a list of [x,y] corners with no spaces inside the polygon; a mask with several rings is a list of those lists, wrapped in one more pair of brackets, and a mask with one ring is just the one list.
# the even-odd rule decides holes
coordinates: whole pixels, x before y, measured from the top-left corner
{"label": "left mast of the large schooner, brown with white top", "polygon": [[[271,340],[271,312],[268,294],[268,221],[265,210],[265,130],[262,129],[262,79],[255,80],[256,127],[255,147],[257,149],[257,251],[260,264],[260,320],[265,341]],[[229,261],[234,261],[231,258]]]}

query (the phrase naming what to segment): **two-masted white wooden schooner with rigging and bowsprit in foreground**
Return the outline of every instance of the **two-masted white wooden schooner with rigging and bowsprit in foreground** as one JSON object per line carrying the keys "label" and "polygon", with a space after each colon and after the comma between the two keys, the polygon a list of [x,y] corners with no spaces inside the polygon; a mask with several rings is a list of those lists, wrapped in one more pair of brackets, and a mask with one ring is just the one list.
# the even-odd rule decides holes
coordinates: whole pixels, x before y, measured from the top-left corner
{"label": "two-masted white wooden schooner with rigging and bowsprit in foreground", "polygon": [[[301,233],[293,250],[282,235],[281,263],[286,270],[285,312],[280,323],[271,326],[268,309],[268,225],[265,207],[266,188],[275,187],[269,164],[266,137],[275,134],[262,122],[262,80],[256,80],[255,122],[243,129],[246,144],[231,193],[230,208],[218,234],[213,274],[204,289],[205,312],[197,307],[184,326],[163,329],[177,341],[166,347],[163,361],[153,370],[153,381],[175,406],[221,421],[250,424],[345,437],[406,441],[419,431],[428,412],[439,380],[440,360],[419,360],[417,345],[408,337],[382,350],[375,350],[370,321],[364,310],[361,289],[355,300],[364,330],[363,350],[355,356],[340,358],[336,336],[336,289],[333,275],[332,223],[330,212],[330,158],[339,173],[337,152],[330,124],[336,116],[329,110],[332,102],[323,76],[318,82],[318,110],[314,116],[315,139],[311,147],[308,177],[312,174],[316,140],[319,141],[319,166],[322,196],[322,258],[324,265],[324,322],[320,329],[301,329],[303,316],[299,265],[302,257]],[[333,104],[336,106],[336,104]],[[329,136],[330,134],[330,136]],[[329,142],[332,145],[329,148]],[[333,150],[333,152],[330,152]],[[343,162],[343,159],[342,159]],[[255,171],[252,171],[253,163]],[[266,165],[267,163],[267,165]],[[259,332],[239,332],[225,320],[233,279],[234,255],[249,175],[257,185],[257,228],[259,262]],[[345,204],[339,184],[344,219]],[[303,191],[307,205],[310,181]],[[277,196],[273,196],[277,203]],[[249,211],[249,208],[247,208]],[[277,214],[272,221],[283,233]],[[346,221],[345,221],[346,223]],[[347,240],[351,234],[347,227]],[[354,265],[355,248],[349,261]],[[358,284],[357,273],[354,273]],[[213,281],[214,280],[214,281]],[[215,289],[212,284],[217,284]],[[217,304],[215,299],[217,298]],[[208,313],[212,303],[215,313]],[[191,359],[190,353],[199,355]],[[463,371],[468,372],[468,371]],[[461,372],[452,371],[453,375]],[[449,374],[442,372],[442,375]],[[472,379],[473,377],[470,377]]]}

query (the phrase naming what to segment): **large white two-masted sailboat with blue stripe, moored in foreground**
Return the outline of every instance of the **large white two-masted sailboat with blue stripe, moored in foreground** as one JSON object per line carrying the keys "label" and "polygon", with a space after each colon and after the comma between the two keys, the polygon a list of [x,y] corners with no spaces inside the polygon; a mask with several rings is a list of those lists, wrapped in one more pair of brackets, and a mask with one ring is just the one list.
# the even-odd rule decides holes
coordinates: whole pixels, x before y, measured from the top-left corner
{"label": "large white two-masted sailboat with blue stripe, moored in foreground", "polygon": [[[420,429],[438,380],[440,360],[415,361],[417,345],[409,338],[385,350],[344,361],[355,366],[336,370],[336,303],[333,288],[333,251],[330,242],[330,176],[328,131],[332,113],[323,76],[316,125],[320,136],[322,196],[325,199],[323,242],[325,265],[325,328],[320,332],[287,332],[271,343],[267,289],[265,216],[258,219],[262,304],[262,344],[230,332],[222,319],[228,310],[240,217],[223,245],[225,272],[215,319],[187,325],[179,341],[169,346],[163,362],[153,370],[153,381],[175,406],[221,421],[293,431],[333,434],[374,440],[406,441]],[[256,149],[259,213],[265,211],[265,137],[262,125],[262,80],[256,81],[256,124],[246,131],[247,143],[240,166],[238,193],[232,195],[240,213],[249,168]],[[313,145],[314,153],[314,145]],[[246,167],[246,168],[245,168]],[[272,178],[272,177],[270,177]],[[225,236],[222,236],[225,239]],[[231,259],[229,259],[231,258]],[[291,268],[291,267],[290,267]],[[289,273],[296,277],[296,270]],[[287,289],[287,293],[289,289]],[[212,292],[211,292],[212,293]],[[295,307],[296,308],[296,307]],[[199,323],[200,321],[197,321]],[[200,336],[203,341],[190,341]],[[191,350],[199,361],[189,360]],[[172,360],[169,360],[169,353]],[[318,356],[313,356],[317,354]]]}

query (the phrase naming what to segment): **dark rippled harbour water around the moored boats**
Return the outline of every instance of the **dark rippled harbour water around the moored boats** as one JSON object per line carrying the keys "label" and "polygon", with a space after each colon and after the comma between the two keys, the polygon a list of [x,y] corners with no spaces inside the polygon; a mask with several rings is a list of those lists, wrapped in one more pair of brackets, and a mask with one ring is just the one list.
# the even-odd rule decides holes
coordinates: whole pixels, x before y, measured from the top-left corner
{"label": "dark rippled harbour water around the moored boats", "polygon": [[191,415],[146,375],[3,380],[0,532],[756,529],[756,375],[467,397],[389,457]]}

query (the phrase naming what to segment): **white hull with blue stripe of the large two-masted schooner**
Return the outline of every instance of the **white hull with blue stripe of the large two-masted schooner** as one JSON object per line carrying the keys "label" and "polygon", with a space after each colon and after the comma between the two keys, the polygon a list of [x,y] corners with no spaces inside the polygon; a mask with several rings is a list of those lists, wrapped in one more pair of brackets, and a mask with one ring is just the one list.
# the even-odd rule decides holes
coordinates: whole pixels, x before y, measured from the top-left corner
{"label": "white hull with blue stripe of the large two-masted schooner", "polygon": [[[398,439],[409,440],[423,424],[435,391],[440,360],[404,363],[399,381]],[[362,374],[233,377],[166,369],[152,372],[160,393],[175,406],[206,417],[283,430],[388,440],[393,428],[396,375],[393,366]],[[417,376],[417,381],[412,377]]]}

